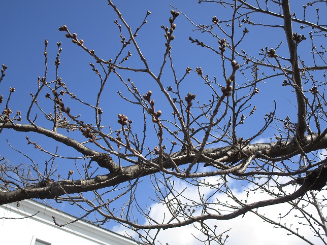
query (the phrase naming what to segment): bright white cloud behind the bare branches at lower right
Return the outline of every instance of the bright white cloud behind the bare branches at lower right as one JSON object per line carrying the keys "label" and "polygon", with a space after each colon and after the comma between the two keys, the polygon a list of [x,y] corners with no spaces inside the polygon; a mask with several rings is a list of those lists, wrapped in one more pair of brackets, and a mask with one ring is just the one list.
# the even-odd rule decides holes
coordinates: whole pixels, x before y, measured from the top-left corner
{"label": "bright white cloud behind the bare branches at lower right", "polygon": [[[215,183],[217,181],[217,177],[206,178],[206,182],[209,181],[211,183]],[[177,180],[175,181],[176,186],[179,187],[180,190],[186,187],[183,181]],[[250,187],[250,186],[249,186]],[[206,188],[206,195],[210,194],[208,189]],[[287,192],[292,192],[293,189],[291,187],[284,188]],[[201,191],[204,189],[201,189]],[[233,193],[238,196],[239,199],[246,199],[246,193],[240,191],[239,189],[233,190]],[[194,197],[198,200],[198,188],[196,186],[187,187],[184,192],[185,196]],[[251,195],[249,198],[249,203],[257,200],[265,200],[271,199],[272,197],[265,193],[259,193],[256,195]],[[213,200],[219,200],[220,202],[226,202],[232,204],[232,200],[227,198],[225,194],[218,193],[212,196]],[[151,206],[151,214],[154,219],[161,221],[166,214],[167,218],[170,217],[168,209],[165,205],[153,203]],[[212,206],[213,207],[213,206]],[[258,212],[261,215],[265,215],[268,218],[278,221],[279,213],[281,215],[286,215],[286,213],[291,209],[289,204],[283,203],[273,206],[261,207],[258,209]],[[308,210],[307,210],[308,211]],[[309,212],[312,214],[316,214],[315,209],[312,207],[309,209]],[[319,244],[321,241],[314,237],[314,234],[310,231],[310,227],[299,224],[299,218],[295,217],[295,214],[300,214],[298,211],[293,210],[285,219],[282,219],[282,224],[286,223],[287,227],[291,227],[292,230],[296,230],[299,228],[299,233],[305,236],[308,240],[313,242],[314,244]],[[195,212],[194,215],[200,215],[199,211]],[[144,223],[146,224],[146,223]],[[206,224],[210,227],[214,227],[217,225],[217,234],[224,232],[225,230],[231,229],[230,231],[224,233],[223,238],[226,234],[228,234],[227,242],[225,244],[242,244],[242,245],[252,245],[252,244],[265,244],[265,245],[275,245],[275,244],[308,244],[304,240],[300,239],[296,235],[287,235],[285,229],[274,228],[274,225],[264,222],[262,219],[257,217],[255,214],[247,213],[244,216],[237,217],[232,220],[210,220],[206,221]],[[196,224],[198,225],[198,224]],[[126,231],[126,228],[122,226],[116,226],[114,231],[123,234]],[[127,231],[128,233],[128,231]],[[185,227],[179,228],[171,228],[167,230],[160,231],[159,235],[156,238],[156,241],[160,241],[161,244],[187,244],[187,245],[202,245],[204,242],[197,240],[195,237],[204,237],[203,234],[195,229],[193,225],[188,225]],[[160,244],[158,243],[158,244]],[[206,243],[207,244],[207,243]]]}

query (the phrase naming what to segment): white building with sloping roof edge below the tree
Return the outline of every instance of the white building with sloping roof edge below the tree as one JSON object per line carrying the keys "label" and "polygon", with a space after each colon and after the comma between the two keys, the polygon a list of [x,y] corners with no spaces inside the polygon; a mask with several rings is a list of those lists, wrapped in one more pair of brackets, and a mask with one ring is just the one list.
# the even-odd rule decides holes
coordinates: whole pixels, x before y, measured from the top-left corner
{"label": "white building with sloping roof edge below the tree", "polygon": [[54,224],[52,216],[58,224],[66,224],[76,218],[37,201],[24,200],[19,202],[19,206],[16,204],[0,205],[1,245],[136,244],[122,235],[86,221],[58,227]]}

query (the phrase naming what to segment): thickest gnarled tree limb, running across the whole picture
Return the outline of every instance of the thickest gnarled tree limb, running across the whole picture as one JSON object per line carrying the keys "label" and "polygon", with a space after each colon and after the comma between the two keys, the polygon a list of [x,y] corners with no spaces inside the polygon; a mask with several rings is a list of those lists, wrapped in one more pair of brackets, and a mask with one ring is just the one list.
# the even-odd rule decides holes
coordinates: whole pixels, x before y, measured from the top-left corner
{"label": "thickest gnarled tree limb, running across the whole picture", "polygon": [[[27,129],[28,127],[26,126],[16,127],[16,128]],[[40,130],[39,132],[43,132],[43,130]],[[52,135],[52,133],[50,132],[47,132],[47,134]],[[53,132],[53,134],[58,134],[58,133]],[[71,142],[74,141],[72,140]],[[302,150],[305,153],[315,151],[318,149],[323,149],[323,148],[327,148],[327,136],[321,137],[318,136],[317,134],[306,136],[302,146]],[[245,148],[243,148],[241,151],[242,154],[240,154],[240,151],[235,147],[205,149],[203,152],[204,156],[200,157],[198,162],[205,162],[206,157],[210,157],[211,159],[214,160],[221,159],[221,161],[223,162],[238,162],[246,158],[247,156],[253,155],[257,151],[261,151],[263,154],[265,154],[268,157],[286,156],[292,153],[296,153],[297,151],[298,153],[300,153],[299,147],[293,142],[289,142],[286,147],[280,147],[278,142],[257,143],[253,145],[248,145]],[[94,151],[90,150],[90,152],[94,154]],[[95,153],[99,154],[97,152]],[[195,157],[195,153],[185,155],[184,152],[176,152],[171,155],[171,158],[178,166],[191,163],[194,157]],[[166,162],[164,162],[165,169],[171,167],[174,167],[174,165],[170,161],[167,160]],[[92,179],[63,180],[58,182],[48,181],[46,184],[43,183],[43,185],[34,185],[34,186],[28,186],[21,189],[17,189],[14,191],[1,192],[0,205],[5,203],[21,201],[24,199],[30,199],[30,198],[50,199],[50,198],[59,197],[64,194],[80,193],[80,192],[102,189],[105,187],[115,186],[117,184],[124,183],[126,181],[134,180],[142,176],[147,176],[149,174],[156,173],[161,170],[162,169],[155,168],[155,167],[147,168],[144,165],[140,164],[140,165],[130,165],[130,166],[122,167],[121,171],[111,172],[109,174],[102,175],[102,176],[96,176],[95,178]],[[215,172],[204,172],[201,173],[199,177],[212,176],[214,175],[213,173]],[[194,174],[194,177],[197,177],[196,174],[197,173]],[[191,177],[193,176],[191,175]]]}

